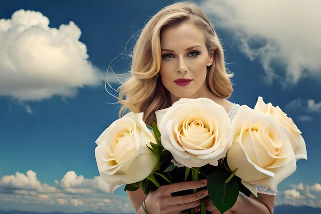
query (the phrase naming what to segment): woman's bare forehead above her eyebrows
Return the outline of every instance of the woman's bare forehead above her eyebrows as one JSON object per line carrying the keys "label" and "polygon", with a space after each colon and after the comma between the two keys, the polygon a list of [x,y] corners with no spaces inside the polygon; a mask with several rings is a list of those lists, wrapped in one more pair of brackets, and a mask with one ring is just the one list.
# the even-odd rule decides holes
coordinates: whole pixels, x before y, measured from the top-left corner
{"label": "woman's bare forehead above her eyebrows", "polygon": [[204,31],[190,20],[167,26],[160,32],[162,48],[189,47],[195,44],[205,47],[205,35]]}

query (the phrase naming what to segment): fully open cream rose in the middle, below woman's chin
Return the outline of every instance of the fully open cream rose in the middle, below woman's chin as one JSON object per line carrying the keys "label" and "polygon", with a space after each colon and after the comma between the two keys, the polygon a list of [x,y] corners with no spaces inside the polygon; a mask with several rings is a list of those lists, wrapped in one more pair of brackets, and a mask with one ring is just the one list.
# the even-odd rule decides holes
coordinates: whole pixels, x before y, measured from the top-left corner
{"label": "fully open cream rose in the middle, below woman's chin", "polygon": [[210,99],[180,99],[155,113],[164,148],[184,166],[217,166],[231,146],[229,115]]}

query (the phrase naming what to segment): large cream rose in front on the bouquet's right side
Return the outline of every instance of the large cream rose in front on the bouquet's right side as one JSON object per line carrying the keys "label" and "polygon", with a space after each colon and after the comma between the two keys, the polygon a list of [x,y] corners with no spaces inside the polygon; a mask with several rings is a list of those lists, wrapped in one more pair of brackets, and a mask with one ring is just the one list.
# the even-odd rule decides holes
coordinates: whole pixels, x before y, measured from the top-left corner
{"label": "large cream rose in front on the bouquet's right side", "polygon": [[[256,185],[270,189],[296,169],[293,135],[273,116],[240,106],[232,120],[233,143],[227,163],[236,176],[257,196]],[[300,153],[300,152],[299,152]]]}

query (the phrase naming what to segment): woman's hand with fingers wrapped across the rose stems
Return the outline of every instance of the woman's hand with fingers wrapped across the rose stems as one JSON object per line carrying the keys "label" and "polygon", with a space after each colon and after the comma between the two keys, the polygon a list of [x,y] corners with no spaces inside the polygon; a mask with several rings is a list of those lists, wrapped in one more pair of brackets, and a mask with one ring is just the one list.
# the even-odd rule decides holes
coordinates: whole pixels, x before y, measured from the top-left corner
{"label": "woman's hand with fingers wrapped across the rose stems", "polygon": [[206,186],[207,180],[180,182],[160,186],[150,191],[145,205],[149,214],[178,214],[185,209],[200,205],[200,199],[208,195],[207,189],[187,194],[186,196],[172,196],[172,192],[196,189]]}

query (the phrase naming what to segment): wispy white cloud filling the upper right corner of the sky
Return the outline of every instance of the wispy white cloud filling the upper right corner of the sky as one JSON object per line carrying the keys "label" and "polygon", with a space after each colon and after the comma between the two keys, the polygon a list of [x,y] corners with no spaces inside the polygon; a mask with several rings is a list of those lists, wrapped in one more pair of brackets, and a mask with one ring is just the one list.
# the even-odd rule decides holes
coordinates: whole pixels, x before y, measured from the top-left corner
{"label": "wispy white cloud filling the upper right corner of the sky", "polygon": [[[267,83],[295,84],[308,75],[321,80],[321,2],[206,0],[199,4],[214,28],[230,31],[250,60],[259,59]],[[276,73],[276,66],[283,67],[285,74]]]}

